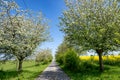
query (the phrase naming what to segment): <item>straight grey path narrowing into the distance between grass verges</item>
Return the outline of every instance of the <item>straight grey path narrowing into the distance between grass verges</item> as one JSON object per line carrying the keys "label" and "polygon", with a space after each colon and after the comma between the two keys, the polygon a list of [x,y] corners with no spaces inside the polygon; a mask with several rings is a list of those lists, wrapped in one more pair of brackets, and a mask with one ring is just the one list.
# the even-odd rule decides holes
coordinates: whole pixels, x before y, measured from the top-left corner
{"label": "straight grey path narrowing into the distance between grass verges", "polygon": [[70,80],[53,60],[52,63],[43,71],[36,80]]}

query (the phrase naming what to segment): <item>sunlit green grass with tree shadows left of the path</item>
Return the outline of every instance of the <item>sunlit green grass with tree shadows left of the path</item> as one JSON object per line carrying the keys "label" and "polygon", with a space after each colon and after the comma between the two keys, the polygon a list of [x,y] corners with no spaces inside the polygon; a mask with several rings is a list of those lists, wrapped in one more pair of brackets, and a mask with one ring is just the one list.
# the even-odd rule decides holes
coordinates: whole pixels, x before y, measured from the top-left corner
{"label": "sunlit green grass with tree shadows left of the path", "polygon": [[35,66],[34,61],[24,61],[23,71],[16,71],[16,63],[0,63],[0,80],[34,80],[49,64]]}

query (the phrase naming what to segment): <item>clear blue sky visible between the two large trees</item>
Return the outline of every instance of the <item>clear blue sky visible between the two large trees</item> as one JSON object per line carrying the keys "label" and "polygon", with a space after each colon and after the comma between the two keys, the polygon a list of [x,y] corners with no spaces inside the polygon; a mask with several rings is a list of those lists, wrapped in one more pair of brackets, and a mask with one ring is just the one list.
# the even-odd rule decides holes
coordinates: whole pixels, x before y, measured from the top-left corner
{"label": "clear blue sky visible between the two large trees", "polygon": [[57,47],[63,41],[63,33],[59,31],[59,19],[58,17],[65,10],[66,6],[64,0],[15,0],[22,9],[31,9],[32,11],[41,11],[43,15],[50,20],[50,35],[53,38],[52,42],[45,42],[38,47],[50,48],[53,54]]}

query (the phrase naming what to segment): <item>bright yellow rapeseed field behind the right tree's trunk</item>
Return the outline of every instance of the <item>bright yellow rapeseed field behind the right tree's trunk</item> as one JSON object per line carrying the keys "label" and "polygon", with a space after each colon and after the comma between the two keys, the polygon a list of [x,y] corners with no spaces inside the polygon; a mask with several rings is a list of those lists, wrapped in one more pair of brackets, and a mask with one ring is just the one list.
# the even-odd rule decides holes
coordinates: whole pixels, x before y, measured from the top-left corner
{"label": "bright yellow rapeseed field behind the right tree's trunk", "polygon": [[[110,61],[120,60],[120,56],[103,56],[102,58],[103,60],[110,60]],[[80,59],[98,61],[99,57],[98,56],[80,56]]]}

